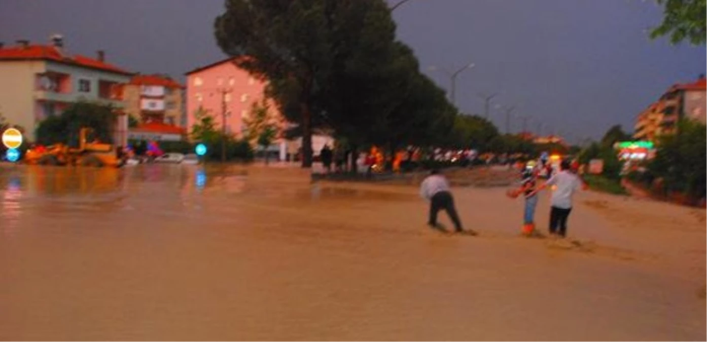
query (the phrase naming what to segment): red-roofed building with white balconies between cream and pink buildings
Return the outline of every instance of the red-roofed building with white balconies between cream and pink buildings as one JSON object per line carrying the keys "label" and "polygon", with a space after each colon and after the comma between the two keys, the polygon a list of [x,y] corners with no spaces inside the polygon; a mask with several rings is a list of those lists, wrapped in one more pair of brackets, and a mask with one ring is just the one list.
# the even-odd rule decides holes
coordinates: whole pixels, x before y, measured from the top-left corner
{"label": "red-roofed building with white balconies between cream and pink buildings", "polygon": [[[170,76],[135,75],[124,87],[125,112],[139,122],[139,127],[152,133],[159,133],[155,131],[159,129],[164,134],[183,131],[184,88]],[[130,129],[130,137],[139,138],[134,131]]]}

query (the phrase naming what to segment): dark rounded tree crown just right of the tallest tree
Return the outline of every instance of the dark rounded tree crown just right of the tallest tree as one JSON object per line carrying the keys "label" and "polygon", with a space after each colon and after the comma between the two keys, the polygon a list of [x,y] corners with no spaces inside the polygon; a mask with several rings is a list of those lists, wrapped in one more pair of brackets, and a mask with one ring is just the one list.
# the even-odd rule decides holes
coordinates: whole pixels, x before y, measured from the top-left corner
{"label": "dark rounded tree crown just right of the tallest tree", "polygon": [[354,147],[377,145],[391,152],[448,136],[455,110],[444,91],[419,72],[412,50],[401,42],[379,49],[379,58],[368,64],[332,72],[330,83],[340,86],[328,88],[327,119],[337,135]]}

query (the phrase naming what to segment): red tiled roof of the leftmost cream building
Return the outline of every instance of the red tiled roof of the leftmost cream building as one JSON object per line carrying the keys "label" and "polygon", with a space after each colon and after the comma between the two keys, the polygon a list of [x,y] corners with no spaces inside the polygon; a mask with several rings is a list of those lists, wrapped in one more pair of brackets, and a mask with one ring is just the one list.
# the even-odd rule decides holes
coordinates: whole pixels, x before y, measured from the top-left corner
{"label": "red tiled roof of the leftmost cream building", "polygon": [[123,75],[132,75],[129,71],[120,69],[117,66],[108,64],[99,59],[93,59],[77,54],[69,56],[52,45],[16,45],[12,47],[0,47],[0,61],[24,61],[43,60],[56,61],[58,63],[83,66],[90,69],[98,69]]}

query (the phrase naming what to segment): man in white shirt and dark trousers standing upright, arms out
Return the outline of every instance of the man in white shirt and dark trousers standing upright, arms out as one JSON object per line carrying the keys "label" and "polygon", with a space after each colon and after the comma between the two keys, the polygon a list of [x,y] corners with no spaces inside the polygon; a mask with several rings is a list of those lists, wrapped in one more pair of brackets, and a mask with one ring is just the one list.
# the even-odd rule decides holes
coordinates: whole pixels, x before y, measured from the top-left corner
{"label": "man in white shirt and dark trousers standing upright, arms out", "polygon": [[569,160],[560,164],[560,172],[548,179],[532,194],[546,187],[555,186],[552,191],[550,209],[550,234],[556,237],[565,237],[567,234],[567,219],[572,211],[572,198],[579,189],[587,189],[587,185],[570,170]]}

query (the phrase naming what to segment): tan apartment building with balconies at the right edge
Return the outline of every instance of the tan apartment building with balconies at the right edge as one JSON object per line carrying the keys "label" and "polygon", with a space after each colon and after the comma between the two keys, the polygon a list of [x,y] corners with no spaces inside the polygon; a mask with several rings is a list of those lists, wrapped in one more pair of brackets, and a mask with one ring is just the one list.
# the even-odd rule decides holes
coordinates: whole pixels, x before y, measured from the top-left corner
{"label": "tan apartment building with balconies at the right edge", "polygon": [[695,82],[670,87],[638,114],[633,138],[655,141],[659,136],[675,134],[681,119],[707,124],[707,78],[703,75]]}

